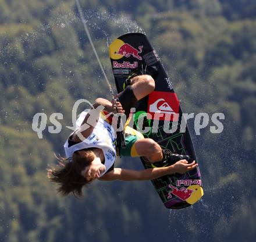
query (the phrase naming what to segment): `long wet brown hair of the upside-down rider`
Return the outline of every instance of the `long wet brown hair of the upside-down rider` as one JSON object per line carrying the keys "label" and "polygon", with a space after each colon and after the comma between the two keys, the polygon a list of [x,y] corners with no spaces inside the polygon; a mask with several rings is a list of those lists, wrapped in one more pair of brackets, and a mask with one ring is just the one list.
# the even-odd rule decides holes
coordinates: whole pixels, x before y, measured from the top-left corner
{"label": "long wet brown hair of the upside-down rider", "polygon": [[48,178],[57,183],[56,189],[63,196],[73,193],[76,198],[83,198],[82,188],[92,181],[81,175],[81,171],[90,165],[95,155],[91,150],[80,150],[74,152],[72,158],[65,159],[55,155],[59,165],[47,169]]}

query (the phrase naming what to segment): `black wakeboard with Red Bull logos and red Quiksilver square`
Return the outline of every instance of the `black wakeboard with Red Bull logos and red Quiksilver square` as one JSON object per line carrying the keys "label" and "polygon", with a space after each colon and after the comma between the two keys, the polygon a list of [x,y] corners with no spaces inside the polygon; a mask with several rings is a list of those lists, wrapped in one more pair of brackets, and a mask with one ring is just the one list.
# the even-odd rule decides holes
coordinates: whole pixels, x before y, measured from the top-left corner
{"label": "black wakeboard with Red Bull logos and red Quiksilver square", "polygon": [[[143,131],[144,127],[149,127],[147,133],[143,133],[145,138],[152,138],[163,149],[175,154],[189,155],[197,162],[189,129],[186,124],[182,128],[179,99],[147,37],[142,33],[124,34],[109,45],[109,56],[118,92],[123,91],[124,83],[131,74],[138,71],[144,74],[150,69],[155,72],[155,90],[138,102],[133,115],[134,128]],[[141,122],[144,123],[143,127]],[[158,123],[157,130],[153,125],[155,122]],[[145,169],[152,168],[144,157],[141,157],[141,161]],[[198,167],[184,174],[162,176],[151,182],[166,208],[189,207],[204,194]]]}

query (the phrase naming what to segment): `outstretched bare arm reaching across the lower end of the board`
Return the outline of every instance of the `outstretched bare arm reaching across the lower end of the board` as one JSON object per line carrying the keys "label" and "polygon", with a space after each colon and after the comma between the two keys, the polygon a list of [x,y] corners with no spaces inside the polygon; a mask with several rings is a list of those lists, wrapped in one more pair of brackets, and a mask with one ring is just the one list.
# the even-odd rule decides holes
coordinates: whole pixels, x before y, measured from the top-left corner
{"label": "outstretched bare arm reaching across the lower end of the board", "polygon": [[186,160],[176,162],[174,165],[162,168],[149,168],[145,170],[129,170],[122,168],[114,168],[111,172],[99,177],[102,181],[122,180],[122,181],[143,181],[154,180],[161,176],[173,173],[185,173],[194,169],[198,165],[195,162],[187,163]]}

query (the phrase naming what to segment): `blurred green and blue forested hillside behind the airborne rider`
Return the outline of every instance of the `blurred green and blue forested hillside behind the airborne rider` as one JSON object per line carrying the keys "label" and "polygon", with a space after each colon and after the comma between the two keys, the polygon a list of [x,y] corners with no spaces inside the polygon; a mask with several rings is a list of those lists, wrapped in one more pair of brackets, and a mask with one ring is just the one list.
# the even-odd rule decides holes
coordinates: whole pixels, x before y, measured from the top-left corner
{"label": "blurred green and blue forested hillside behind the airborne rider", "polygon": [[[95,182],[84,199],[56,194],[46,169],[64,155],[72,107],[111,98],[75,1],[0,0],[0,241],[255,241],[256,2],[81,0],[114,86],[108,45],[147,34],[183,112],[225,114],[224,130],[196,136],[205,195],[166,209],[150,182]],[[81,110],[88,108],[81,107]],[[40,139],[35,113],[63,113]],[[47,127],[52,125],[47,123]],[[143,169],[140,159],[118,166]]]}

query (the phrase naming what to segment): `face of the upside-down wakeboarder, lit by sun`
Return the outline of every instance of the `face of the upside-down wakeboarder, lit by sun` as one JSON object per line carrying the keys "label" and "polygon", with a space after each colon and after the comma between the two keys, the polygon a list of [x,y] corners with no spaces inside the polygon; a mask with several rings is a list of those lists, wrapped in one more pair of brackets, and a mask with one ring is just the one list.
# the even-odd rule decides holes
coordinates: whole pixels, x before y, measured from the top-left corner
{"label": "face of the upside-down wakeboarder, lit by sun", "polygon": [[81,172],[81,175],[86,177],[86,179],[95,180],[101,173],[105,172],[106,167],[101,163],[99,158],[95,158],[89,166]]}

